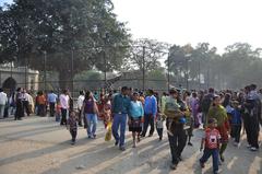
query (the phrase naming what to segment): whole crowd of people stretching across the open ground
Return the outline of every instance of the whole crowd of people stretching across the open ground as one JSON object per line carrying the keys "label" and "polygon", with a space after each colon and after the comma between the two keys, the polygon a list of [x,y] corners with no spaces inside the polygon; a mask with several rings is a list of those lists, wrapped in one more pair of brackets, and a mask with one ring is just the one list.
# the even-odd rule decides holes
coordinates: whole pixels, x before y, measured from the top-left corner
{"label": "whole crowd of people stretching across the open ground", "polygon": [[[235,92],[230,90],[186,91],[171,89],[169,93],[159,94],[153,90],[145,92],[122,86],[118,91],[80,91],[76,104],[68,90],[60,95],[50,91],[48,94],[38,92],[33,97],[26,90],[17,89],[8,98],[0,89],[0,117],[4,116],[5,105],[15,119],[22,119],[33,112],[39,116],[56,117],[60,125],[66,125],[75,144],[78,127],[84,127],[87,137],[96,138],[97,121],[105,125],[115,138],[115,146],[126,150],[126,127],[132,132],[133,148],[146,136],[152,137],[155,129],[159,141],[163,140],[164,121],[171,152],[172,170],[182,160],[184,147],[193,146],[191,137],[194,129],[204,129],[200,150],[204,149],[200,164],[213,156],[213,171],[217,173],[218,164],[225,161],[229,139],[234,146],[240,146],[241,132],[247,134],[247,148],[259,150],[262,90],[255,84],[247,85]],[[47,107],[48,106],[48,107]],[[75,106],[75,107],[74,107]],[[15,109],[13,109],[15,108]],[[127,124],[128,123],[128,124]],[[147,129],[148,135],[147,135]]]}

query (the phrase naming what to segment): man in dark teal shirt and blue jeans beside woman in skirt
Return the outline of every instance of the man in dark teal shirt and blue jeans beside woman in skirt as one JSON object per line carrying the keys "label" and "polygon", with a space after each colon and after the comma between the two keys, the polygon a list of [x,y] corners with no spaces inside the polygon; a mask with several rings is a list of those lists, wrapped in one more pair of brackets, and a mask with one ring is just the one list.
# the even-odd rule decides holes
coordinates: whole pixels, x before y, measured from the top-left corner
{"label": "man in dark teal shirt and blue jeans beside woman in skirt", "polygon": [[[117,94],[112,100],[112,136],[116,139],[115,146],[119,144],[119,149],[124,151],[124,132],[126,132],[126,124],[128,112],[130,107],[130,97],[128,96],[129,89],[123,86],[121,89],[121,93]],[[120,137],[118,134],[118,129],[120,127]]]}

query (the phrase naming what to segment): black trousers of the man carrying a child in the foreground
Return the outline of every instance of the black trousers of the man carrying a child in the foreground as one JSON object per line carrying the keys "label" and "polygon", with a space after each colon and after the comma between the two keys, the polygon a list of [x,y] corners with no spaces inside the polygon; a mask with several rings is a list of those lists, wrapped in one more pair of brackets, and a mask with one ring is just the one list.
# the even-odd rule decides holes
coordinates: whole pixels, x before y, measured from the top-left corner
{"label": "black trousers of the man carrying a child in the foreground", "polygon": [[171,151],[172,163],[178,164],[178,158],[181,156],[187,143],[187,134],[182,126],[176,127],[172,134],[174,136],[168,134],[168,141]]}

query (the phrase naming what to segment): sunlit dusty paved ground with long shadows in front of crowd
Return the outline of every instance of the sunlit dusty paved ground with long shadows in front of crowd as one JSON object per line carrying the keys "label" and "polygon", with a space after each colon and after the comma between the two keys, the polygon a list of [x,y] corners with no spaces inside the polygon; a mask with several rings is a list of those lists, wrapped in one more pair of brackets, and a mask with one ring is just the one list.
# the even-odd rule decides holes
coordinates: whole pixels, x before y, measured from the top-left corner
{"label": "sunlit dusty paved ground with long shadows in front of crowd", "polygon": [[[0,174],[121,174],[121,173],[212,173],[211,160],[201,170],[198,159],[200,135],[195,130],[193,147],[187,147],[176,171],[169,170],[170,154],[167,137],[158,141],[156,132],[143,139],[136,149],[127,132],[127,150],[119,151],[114,141],[105,142],[105,129],[99,123],[97,139],[87,139],[86,131],[79,129],[78,142],[70,144],[70,135],[53,118],[29,117],[20,121],[0,120]],[[260,139],[262,140],[262,132]],[[250,152],[242,144],[231,142],[225,153],[223,174],[262,174],[262,150]]]}

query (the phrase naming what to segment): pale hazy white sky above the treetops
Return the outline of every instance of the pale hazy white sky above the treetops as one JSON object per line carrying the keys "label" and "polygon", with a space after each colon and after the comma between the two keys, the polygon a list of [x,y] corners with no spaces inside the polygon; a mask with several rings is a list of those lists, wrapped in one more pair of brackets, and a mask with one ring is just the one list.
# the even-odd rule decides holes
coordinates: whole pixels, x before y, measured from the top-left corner
{"label": "pale hazy white sky above the treetops", "polygon": [[262,0],[112,0],[134,38],[193,46],[209,42],[223,51],[248,42],[262,47]]}

